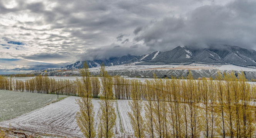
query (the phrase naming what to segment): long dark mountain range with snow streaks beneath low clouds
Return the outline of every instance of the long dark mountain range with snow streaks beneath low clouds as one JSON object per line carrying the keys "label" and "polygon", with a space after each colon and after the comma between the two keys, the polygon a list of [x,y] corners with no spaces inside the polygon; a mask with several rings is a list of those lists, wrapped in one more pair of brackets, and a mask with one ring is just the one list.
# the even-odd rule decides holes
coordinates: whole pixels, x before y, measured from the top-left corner
{"label": "long dark mountain range with snow streaks beneath low clouds", "polygon": [[[177,46],[170,51],[155,51],[142,56],[126,55],[101,60],[86,60],[89,67],[99,67],[121,64],[233,64],[236,66],[256,66],[256,51],[238,46],[223,45],[209,48],[195,48],[191,46]],[[79,69],[84,61],[62,67],[62,69]]]}

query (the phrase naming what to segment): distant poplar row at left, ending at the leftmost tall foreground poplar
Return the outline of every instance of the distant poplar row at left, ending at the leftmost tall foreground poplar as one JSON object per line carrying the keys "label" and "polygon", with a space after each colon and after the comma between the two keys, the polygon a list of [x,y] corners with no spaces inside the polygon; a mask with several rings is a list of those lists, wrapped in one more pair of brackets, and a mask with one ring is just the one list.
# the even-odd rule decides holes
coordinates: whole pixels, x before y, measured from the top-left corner
{"label": "distant poplar row at left, ending at the leftmost tall foreground poplar", "polygon": [[24,81],[0,76],[0,89],[2,90],[77,96],[76,86],[76,81],[55,80],[41,75]]}

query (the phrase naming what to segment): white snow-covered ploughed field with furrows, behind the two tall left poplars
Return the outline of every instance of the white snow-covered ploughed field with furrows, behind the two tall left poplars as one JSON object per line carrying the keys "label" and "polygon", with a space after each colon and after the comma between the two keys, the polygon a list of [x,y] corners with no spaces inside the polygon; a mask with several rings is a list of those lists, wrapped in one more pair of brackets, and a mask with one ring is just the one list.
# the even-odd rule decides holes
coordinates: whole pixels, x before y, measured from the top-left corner
{"label": "white snow-covered ploughed field with furrows, behind the two tall left poplars", "polygon": [[[29,113],[25,113],[16,118],[0,122],[0,126],[5,128],[16,128],[25,131],[31,131],[34,133],[57,135],[66,137],[79,137],[82,138],[83,134],[80,131],[76,123],[76,112],[79,110],[76,100],[78,97],[67,97],[59,102],[44,106]],[[96,128],[98,124],[97,114],[99,110],[99,100],[93,99]],[[120,118],[123,125],[123,132],[121,132],[120,119],[116,110],[116,126],[115,137],[123,138],[127,135],[131,135],[132,128],[127,115],[127,111],[130,110],[128,100],[119,101],[118,109],[120,112]],[[126,104],[123,104],[126,103]]]}

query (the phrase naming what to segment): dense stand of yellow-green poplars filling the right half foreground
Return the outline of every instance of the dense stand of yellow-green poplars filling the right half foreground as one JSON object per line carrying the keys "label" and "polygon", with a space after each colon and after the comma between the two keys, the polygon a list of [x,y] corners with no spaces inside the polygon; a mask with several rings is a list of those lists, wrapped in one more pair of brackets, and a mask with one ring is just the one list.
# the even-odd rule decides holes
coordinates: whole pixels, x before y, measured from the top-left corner
{"label": "dense stand of yellow-green poplars filling the right half foreground", "polygon": [[133,80],[131,86],[128,115],[136,138],[256,136],[256,86],[243,72],[238,79],[218,72],[215,81],[196,81],[189,73],[186,80]]}

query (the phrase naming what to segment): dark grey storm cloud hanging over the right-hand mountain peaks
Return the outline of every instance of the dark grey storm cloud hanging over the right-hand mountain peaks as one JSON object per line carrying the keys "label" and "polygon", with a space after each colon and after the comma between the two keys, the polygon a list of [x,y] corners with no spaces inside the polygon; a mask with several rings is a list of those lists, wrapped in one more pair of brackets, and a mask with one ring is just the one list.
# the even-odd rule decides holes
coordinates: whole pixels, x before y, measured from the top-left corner
{"label": "dark grey storm cloud hanging over the right-hand mountain peaks", "polygon": [[205,5],[187,13],[187,18],[166,17],[148,25],[134,41],[143,41],[160,50],[179,45],[209,47],[220,44],[255,50],[255,7],[255,1]]}

